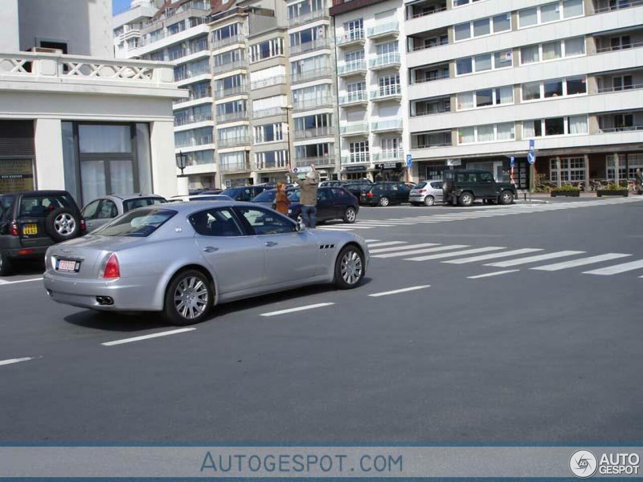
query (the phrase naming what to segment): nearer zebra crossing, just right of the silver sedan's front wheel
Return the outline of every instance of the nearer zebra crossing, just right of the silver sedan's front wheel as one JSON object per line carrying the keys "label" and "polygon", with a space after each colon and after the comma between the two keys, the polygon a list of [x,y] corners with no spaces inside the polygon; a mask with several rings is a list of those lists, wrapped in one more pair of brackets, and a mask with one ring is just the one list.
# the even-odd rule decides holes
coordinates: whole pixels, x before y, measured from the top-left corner
{"label": "nearer zebra crossing, just right of the silver sedan's front wheel", "polygon": [[[471,279],[516,272],[520,271],[520,267],[545,272],[559,272],[573,268],[589,269],[589,271],[582,271],[582,273],[600,276],[611,276],[637,270],[641,270],[640,272],[643,273],[643,259],[620,262],[625,261],[624,258],[633,256],[628,253],[591,254],[577,250],[547,251],[538,247],[511,249],[503,246],[445,245],[430,242],[411,244],[406,241],[378,241],[374,239],[367,240],[367,244],[370,257],[374,259],[401,258],[401,260],[409,262],[437,261],[449,264],[480,263],[491,268],[518,267],[469,276]],[[643,276],[638,277],[643,278]]]}

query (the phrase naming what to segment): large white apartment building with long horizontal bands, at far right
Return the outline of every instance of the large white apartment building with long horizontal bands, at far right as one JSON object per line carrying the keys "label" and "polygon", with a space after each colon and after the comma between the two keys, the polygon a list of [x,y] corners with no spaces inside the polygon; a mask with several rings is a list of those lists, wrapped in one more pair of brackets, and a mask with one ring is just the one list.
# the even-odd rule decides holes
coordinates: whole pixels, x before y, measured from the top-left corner
{"label": "large white apartment building with long horizontal bands, at far right", "polygon": [[643,168],[642,1],[404,7],[413,179],[458,166],[508,180],[511,157],[521,188],[630,179]]}

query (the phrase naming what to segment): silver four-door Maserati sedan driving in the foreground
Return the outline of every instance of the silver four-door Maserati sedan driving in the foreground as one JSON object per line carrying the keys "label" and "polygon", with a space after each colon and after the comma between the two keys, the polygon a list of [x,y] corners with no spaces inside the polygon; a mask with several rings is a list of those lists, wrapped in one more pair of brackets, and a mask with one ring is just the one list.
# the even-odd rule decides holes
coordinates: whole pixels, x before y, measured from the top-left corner
{"label": "silver four-door Maserati sedan driving in the foreground", "polygon": [[134,210],[52,246],[44,287],[58,303],[192,325],[235,299],[316,283],[355,288],[367,266],[358,235],[307,230],[249,202],[185,202]]}

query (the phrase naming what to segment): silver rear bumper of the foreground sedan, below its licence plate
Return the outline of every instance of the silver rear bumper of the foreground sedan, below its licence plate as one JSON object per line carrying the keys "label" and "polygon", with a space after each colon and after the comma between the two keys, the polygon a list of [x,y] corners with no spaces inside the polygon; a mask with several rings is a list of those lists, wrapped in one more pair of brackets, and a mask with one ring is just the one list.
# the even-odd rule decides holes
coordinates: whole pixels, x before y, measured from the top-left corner
{"label": "silver rear bumper of the foreground sedan, below its licence plate", "polygon": [[[162,296],[158,293],[158,275],[118,278],[116,280],[87,280],[60,276],[47,271],[44,287],[53,301],[80,308],[103,311],[160,311]],[[96,296],[109,296],[113,305],[100,305]]]}

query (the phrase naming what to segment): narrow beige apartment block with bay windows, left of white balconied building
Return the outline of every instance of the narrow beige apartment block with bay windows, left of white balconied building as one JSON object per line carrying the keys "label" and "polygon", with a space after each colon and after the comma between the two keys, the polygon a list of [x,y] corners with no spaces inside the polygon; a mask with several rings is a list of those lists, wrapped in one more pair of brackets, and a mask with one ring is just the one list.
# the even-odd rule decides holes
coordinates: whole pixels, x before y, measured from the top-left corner
{"label": "narrow beige apartment block with bay windows, left of white balconied building", "polygon": [[288,0],[294,166],[339,179],[336,51],[329,0]]}

